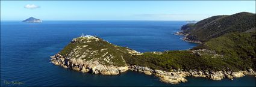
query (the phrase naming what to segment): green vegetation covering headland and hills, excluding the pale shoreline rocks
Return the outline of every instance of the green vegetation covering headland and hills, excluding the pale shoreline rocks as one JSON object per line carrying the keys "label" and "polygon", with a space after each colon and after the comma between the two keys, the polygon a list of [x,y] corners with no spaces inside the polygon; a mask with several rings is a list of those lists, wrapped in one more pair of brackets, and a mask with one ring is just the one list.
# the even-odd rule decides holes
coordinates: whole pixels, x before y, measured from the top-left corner
{"label": "green vegetation covering headland and hills, excluding the pale shoreline rocks", "polygon": [[[99,60],[105,65],[140,65],[157,70],[247,70],[256,66],[255,14],[213,16],[184,25],[183,33],[203,44],[190,50],[145,52],[115,46],[97,37],[79,37],[61,50],[67,58]],[[109,60],[109,61],[106,61]]]}

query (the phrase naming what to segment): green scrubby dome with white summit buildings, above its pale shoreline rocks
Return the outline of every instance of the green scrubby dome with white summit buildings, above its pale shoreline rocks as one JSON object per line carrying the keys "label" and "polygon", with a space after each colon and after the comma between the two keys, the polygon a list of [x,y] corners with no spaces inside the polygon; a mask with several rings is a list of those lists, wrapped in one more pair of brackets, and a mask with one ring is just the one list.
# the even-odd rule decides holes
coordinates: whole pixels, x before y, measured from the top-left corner
{"label": "green scrubby dome with white summit buildings, above its pale shoreline rocks", "polygon": [[60,55],[66,58],[80,58],[84,61],[99,60],[105,65],[124,66],[123,57],[128,56],[130,49],[114,46],[101,38],[78,37],[73,39]]}

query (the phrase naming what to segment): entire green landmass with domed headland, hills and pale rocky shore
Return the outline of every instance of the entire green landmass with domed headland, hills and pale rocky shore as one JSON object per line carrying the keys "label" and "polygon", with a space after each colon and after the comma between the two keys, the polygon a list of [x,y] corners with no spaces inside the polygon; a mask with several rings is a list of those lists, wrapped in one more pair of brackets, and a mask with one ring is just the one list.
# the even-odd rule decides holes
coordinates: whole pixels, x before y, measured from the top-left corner
{"label": "entire green landmass with domed headland, hills and pale rocky shore", "polygon": [[51,62],[83,73],[116,75],[124,71],[154,74],[161,82],[187,82],[186,77],[221,80],[256,76],[255,14],[213,16],[182,26],[176,34],[200,43],[189,50],[140,53],[91,35],[73,38]]}

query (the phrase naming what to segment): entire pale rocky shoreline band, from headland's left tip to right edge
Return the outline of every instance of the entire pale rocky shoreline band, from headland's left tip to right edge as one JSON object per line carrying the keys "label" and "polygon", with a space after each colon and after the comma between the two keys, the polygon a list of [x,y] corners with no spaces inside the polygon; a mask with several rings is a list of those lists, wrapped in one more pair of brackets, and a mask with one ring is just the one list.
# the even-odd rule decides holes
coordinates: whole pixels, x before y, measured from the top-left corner
{"label": "entire pale rocky shoreline band, from headland's left tip to right edge", "polygon": [[126,65],[123,67],[117,67],[113,65],[102,65],[98,61],[86,61],[82,59],[69,59],[57,54],[51,56],[51,62],[55,65],[60,65],[64,68],[70,68],[82,73],[92,74],[104,74],[104,75],[116,75],[123,73],[127,70],[138,71],[148,75],[154,74],[160,78],[161,82],[178,84],[181,82],[187,82],[186,77],[205,77],[212,80],[221,80],[225,77],[233,80],[234,77],[243,77],[245,75],[256,76],[254,70],[249,69],[246,71],[201,71],[201,70],[172,70],[170,72],[163,70],[153,70],[148,67],[140,67],[138,65]]}

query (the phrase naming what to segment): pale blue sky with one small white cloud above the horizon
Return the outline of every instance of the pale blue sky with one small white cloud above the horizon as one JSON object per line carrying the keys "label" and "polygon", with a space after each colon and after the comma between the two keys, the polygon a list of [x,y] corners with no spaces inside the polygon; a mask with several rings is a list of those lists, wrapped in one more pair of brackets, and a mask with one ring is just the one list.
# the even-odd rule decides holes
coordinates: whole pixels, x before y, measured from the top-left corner
{"label": "pale blue sky with one small white cloud above the horizon", "polygon": [[242,11],[255,13],[255,1],[1,1],[1,20],[202,20]]}

